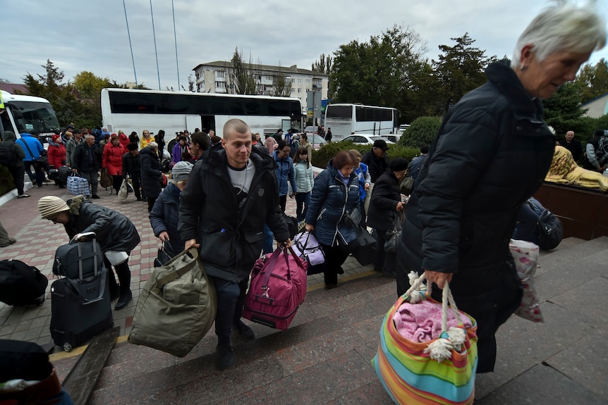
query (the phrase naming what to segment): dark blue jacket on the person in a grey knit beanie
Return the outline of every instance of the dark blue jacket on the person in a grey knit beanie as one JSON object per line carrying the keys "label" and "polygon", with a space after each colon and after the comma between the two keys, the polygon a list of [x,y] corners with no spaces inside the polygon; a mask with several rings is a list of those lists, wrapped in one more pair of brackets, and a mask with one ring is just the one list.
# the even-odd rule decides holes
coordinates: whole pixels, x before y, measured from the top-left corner
{"label": "dark blue jacket on the person in a grey knit beanie", "polygon": [[180,189],[174,183],[169,183],[154,203],[149,217],[155,237],[163,231],[169,234],[169,244],[165,244],[165,247],[172,256],[183,251],[183,240],[177,230],[180,194]]}

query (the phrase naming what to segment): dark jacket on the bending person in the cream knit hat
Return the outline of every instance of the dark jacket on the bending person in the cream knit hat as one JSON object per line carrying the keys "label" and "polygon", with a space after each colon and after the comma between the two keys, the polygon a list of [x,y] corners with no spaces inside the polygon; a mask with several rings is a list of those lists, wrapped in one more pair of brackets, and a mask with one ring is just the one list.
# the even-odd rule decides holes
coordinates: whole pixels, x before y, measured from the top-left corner
{"label": "dark jacket on the bending person in the cream knit hat", "polygon": [[70,238],[77,233],[95,232],[103,252],[130,252],[140,243],[138,230],[123,214],[93,204],[84,197],[74,197],[67,204],[70,207],[70,222],[64,226]]}

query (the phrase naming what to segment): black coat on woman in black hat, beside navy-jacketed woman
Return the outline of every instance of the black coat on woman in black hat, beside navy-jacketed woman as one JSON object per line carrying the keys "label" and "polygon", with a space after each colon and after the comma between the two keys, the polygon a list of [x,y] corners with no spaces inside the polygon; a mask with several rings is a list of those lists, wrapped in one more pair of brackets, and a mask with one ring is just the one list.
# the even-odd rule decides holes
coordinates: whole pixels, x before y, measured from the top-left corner
{"label": "black coat on woman in black hat, beside navy-jacketed woman", "polygon": [[392,230],[395,226],[397,203],[401,201],[399,181],[392,171],[378,177],[372,190],[367,226],[377,230]]}

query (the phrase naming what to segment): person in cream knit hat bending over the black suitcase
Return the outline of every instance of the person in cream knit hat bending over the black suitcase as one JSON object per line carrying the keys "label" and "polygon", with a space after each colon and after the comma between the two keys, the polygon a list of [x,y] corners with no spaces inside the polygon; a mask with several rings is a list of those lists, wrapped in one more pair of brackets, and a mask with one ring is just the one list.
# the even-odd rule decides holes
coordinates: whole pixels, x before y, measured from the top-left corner
{"label": "person in cream knit hat bending over the black suitcase", "polygon": [[[42,218],[63,224],[71,239],[78,239],[78,236],[85,232],[95,232],[110,274],[112,266],[105,256],[107,251],[123,251],[129,256],[141,241],[138,230],[129,218],[110,208],[93,204],[83,196],[76,196],[67,202],[55,196],[42,197],[38,200],[38,211]],[[128,258],[114,266],[114,270],[118,281],[121,282],[116,309],[123,309],[133,299]],[[118,285],[114,275],[109,279],[110,292],[114,295]]]}

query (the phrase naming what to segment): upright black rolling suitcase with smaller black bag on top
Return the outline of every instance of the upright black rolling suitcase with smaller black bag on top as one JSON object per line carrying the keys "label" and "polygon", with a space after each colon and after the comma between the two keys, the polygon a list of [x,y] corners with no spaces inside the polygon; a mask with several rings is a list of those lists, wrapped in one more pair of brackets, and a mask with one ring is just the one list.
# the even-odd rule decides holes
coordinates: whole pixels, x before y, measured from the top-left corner
{"label": "upright black rolling suitcase with smaller black bag on top", "polygon": [[[87,235],[95,237],[95,234]],[[73,245],[73,246],[72,246]],[[65,351],[114,325],[108,270],[95,239],[59,247],[56,268],[66,277],[51,285],[51,337]],[[62,249],[63,248],[63,249]],[[74,252],[79,252],[74,255]],[[59,263],[59,264],[57,264]],[[78,273],[73,275],[74,268]]]}

